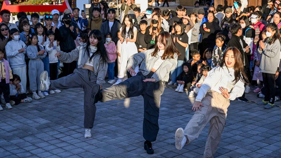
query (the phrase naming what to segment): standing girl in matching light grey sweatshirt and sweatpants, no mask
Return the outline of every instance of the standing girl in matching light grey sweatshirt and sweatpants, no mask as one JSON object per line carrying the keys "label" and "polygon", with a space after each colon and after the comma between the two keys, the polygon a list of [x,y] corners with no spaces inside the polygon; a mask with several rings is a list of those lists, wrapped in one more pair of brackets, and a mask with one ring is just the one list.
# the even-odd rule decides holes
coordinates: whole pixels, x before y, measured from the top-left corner
{"label": "standing girl in matching light grey sweatshirt and sweatpants, no mask", "polygon": [[[45,98],[43,92],[40,90],[40,74],[44,71],[42,59],[46,57],[47,53],[43,47],[38,45],[38,38],[34,33],[30,34],[29,45],[26,52],[28,58],[30,59],[28,64],[28,75],[30,90],[33,93],[32,98]],[[36,90],[38,90],[38,95],[36,94]]]}

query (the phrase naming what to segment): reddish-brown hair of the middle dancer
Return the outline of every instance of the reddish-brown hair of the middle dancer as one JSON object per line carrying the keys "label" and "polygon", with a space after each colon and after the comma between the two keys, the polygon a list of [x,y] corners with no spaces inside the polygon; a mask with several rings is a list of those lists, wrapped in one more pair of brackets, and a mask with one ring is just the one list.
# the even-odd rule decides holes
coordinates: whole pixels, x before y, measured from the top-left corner
{"label": "reddish-brown hair of the middle dancer", "polygon": [[[159,39],[159,42],[165,46],[164,54],[161,57],[162,60],[174,59],[174,54],[176,54],[177,56],[180,55],[177,47],[175,46],[175,43],[173,42],[171,35],[167,31],[159,33],[159,35],[155,41],[157,42],[158,39]],[[151,56],[156,57],[158,50],[159,50],[157,44],[154,46],[154,48],[155,49],[151,53]]]}

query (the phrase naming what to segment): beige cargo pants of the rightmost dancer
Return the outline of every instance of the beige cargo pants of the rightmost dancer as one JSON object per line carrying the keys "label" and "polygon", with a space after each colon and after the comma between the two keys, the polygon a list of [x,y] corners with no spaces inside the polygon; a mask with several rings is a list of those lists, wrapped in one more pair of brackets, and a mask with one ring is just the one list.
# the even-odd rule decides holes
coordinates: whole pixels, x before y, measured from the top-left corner
{"label": "beige cargo pants of the rightmost dancer", "polygon": [[222,131],[225,127],[225,119],[227,108],[230,105],[229,99],[226,99],[222,94],[212,90],[207,93],[202,99],[201,111],[198,109],[188,122],[184,129],[184,135],[187,136],[187,144],[193,142],[198,138],[199,134],[210,122],[210,128],[208,132],[208,138],[206,141],[204,158],[212,158],[216,153],[219,146],[219,142],[222,137]]}

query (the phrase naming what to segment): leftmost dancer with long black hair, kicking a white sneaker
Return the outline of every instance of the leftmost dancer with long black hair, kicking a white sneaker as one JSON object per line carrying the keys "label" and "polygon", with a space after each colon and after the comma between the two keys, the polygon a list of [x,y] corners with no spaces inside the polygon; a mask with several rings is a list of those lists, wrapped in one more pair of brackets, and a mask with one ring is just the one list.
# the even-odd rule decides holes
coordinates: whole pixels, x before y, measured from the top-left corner
{"label": "leftmost dancer with long black hair, kicking a white sneaker", "polygon": [[66,63],[78,60],[78,69],[73,74],[50,81],[47,71],[43,71],[40,88],[45,90],[83,88],[84,90],[84,127],[85,138],[90,138],[97,107],[94,105],[94,96],[99,92],[107,72],[109,57],[103,45],[100,30],[92,30],[86,45],[77,47],[70,53],[59,51],[56,57]]}

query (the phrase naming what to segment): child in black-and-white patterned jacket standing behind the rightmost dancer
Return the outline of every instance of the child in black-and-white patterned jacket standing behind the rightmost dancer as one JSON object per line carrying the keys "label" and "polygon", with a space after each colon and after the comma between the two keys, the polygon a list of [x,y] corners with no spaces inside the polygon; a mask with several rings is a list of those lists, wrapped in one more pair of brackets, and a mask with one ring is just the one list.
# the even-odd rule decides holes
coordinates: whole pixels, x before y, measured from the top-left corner
{"label": "child in black-and-white patterned jacket standing behind the rightmost dancer", "polygon": [[212,64],[214,67],[218,66],[222,62],[223,53],[226,50],[226,45],[224,44],[225,36],[218,36],[216,38],[216,48],[213,50]]}

